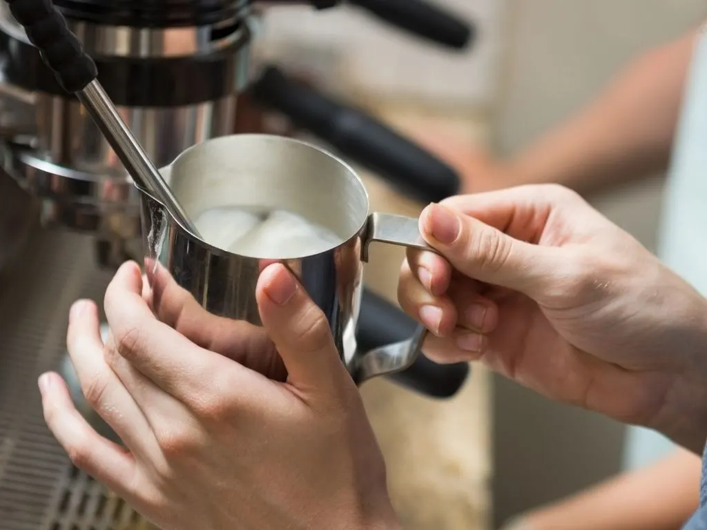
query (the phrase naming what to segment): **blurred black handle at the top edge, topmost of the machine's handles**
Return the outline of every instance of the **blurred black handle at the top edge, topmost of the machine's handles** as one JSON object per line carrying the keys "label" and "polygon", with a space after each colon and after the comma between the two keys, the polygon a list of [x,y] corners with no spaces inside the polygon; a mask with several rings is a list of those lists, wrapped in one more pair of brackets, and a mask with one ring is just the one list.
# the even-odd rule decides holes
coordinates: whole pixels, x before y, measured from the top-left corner
{"label": "blurred black handle at the top edge, topmost of the machine's handles", "polygon": [[452,13],[424,0],[349,0],[403,30],[455,49],[469,46],[474,28]]}

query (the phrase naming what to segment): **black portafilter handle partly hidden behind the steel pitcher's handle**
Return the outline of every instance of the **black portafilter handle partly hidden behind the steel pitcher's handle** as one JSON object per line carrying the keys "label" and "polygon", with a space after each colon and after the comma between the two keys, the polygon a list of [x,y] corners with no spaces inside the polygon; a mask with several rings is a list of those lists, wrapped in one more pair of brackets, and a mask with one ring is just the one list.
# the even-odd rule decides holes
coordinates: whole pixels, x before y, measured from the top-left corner
{"label": "black portafilter handle partly hidden behind the steel pitcher's handle", "polygon": [[[356,331],[356,341],[361,351],[404,341],[418,329],[418,324],[398,307],[370,290],[363,291]],[[468,376],[467,363],[439,365],[419,355],[407,370],[387,377],[420,394],[449,398],[457,394]]]}

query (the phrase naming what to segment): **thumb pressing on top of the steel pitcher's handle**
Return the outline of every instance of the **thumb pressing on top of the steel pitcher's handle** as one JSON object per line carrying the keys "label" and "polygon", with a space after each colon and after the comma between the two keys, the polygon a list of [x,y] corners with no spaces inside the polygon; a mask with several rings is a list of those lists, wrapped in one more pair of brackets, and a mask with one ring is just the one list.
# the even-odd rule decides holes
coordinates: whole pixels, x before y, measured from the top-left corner
{"label": "thumb pressing on top of the steel pitcher's handle", "polygon": [[543,286],[557,266],[552,247],[517,240],[440,204],[431,204],[422,212],[420,232],[465,276],[517,290],[531,298],[542,295]]}

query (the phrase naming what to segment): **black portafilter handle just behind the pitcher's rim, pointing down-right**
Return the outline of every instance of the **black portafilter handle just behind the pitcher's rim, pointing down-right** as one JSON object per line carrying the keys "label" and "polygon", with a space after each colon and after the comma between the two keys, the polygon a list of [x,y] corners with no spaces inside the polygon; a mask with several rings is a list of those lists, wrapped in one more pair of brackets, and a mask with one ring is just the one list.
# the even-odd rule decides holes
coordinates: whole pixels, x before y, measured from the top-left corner
{"label": "black portafilter handle just behind the pitcher's rim, pointing down-right", "polygon": [[293,81],[275,66],[252,86],[262,105],[285,114],[342,155],[423,202],[456,195],[460,178],[451,167],[362,110]]}

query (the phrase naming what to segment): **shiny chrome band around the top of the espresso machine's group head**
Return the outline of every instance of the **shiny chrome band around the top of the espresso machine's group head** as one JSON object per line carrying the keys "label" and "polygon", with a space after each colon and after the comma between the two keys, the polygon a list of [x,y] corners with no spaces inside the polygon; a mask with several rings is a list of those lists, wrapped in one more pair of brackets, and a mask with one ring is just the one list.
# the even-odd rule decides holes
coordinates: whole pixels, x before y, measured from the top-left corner
{"label": "shiny chrome band around the top of the espresso machine's group head", "polygon": [[[81,40],[90,56],[105,57],[185,57],[218,52],[235,42],[247,40],[243,19],[250,6],[241,0],[242,13],[217,25],[186,28],[130,28],[66,20],[71,33]],[[5,2],[0,4],[0,30],[29,42],[24,28],[11,15]]]}

